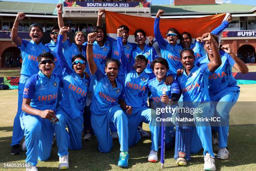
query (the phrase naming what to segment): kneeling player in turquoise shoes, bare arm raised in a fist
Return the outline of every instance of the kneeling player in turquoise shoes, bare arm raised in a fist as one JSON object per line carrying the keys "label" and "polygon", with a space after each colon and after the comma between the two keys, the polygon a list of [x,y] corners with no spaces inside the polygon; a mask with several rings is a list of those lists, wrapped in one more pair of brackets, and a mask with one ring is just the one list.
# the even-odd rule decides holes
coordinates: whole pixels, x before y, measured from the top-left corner
{"label": "kneeling player in turquoise shoes, bare arm raised in a fist", "polygon": [[97,69],[93,59],[93,42],[97,36],[97,33],[88,35],[86,51],[93,84],[90,107],[92,128],[99,143],[98,148],[103,153],[110,152],[113,146],[110,125],[113,124],[117,128],[121,151],[118,166],[128,167],[128,119],[122,108],[129,111],[129,107],[124,101],[124,88],[116,79],[120,63],[116,59],[108,59],[105,63],[105,75]]}

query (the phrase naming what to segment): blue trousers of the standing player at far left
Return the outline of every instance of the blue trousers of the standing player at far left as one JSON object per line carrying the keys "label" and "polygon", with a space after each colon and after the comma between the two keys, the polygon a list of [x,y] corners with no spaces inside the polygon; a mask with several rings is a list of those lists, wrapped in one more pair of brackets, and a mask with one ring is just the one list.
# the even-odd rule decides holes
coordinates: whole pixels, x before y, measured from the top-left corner
{"label": "blue trousers of the standing player at far left", "polygon": [[24,131],[20,127],[20,114],[22,112],[21,107],[22,107],[23,91],[24,91],[25,83],[28,80],[28,78],[29,77],[26,75],[20,75],[20,81],[18,86],[18,109],[13,121],[13,137],[12,137],[11,146],[15,144],[20,144],[20,141],[24,136]]}

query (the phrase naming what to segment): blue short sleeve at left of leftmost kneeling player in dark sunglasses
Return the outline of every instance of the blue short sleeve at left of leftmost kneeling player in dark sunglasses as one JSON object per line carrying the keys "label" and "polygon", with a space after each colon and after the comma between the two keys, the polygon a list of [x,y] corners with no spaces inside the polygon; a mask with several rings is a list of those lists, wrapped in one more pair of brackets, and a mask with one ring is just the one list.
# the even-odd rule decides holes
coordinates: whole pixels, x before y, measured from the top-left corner
{"label": "blue short sleeve at left of leftmost kneeling player in dark sunglasses", "polygon": [[32,99],[35,93],[36,87],[36,76],[32,76],[27,80],[24,90],[23,90],[23,98]]}

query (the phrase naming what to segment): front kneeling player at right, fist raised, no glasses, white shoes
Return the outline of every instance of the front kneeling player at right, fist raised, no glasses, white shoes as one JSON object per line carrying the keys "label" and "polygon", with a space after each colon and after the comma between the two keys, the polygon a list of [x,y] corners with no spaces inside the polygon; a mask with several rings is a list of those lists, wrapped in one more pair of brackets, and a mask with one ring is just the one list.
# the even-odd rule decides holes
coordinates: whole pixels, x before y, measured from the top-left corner
{"label": "front kneeling player at right, fist raised, no glasses, white shoes", "polygon": [[[202,40],[210,45],[213,59],[210,63],[198,67],[195,65],[194,51],[184,48],[180,52],[181,62],[184,66],[182,76],[178,77],[178,83],[182,89],[184,107],[198,108],[202,112],[193,114],[194,118],[210,118],[214,115],[213,104],[211,103],[208,91],[208,77],[221,65],[218,43],[214,35],[205,33]],[[182,113],[179,113],[181,115]],[[176,142],[174,158],[178,165],[186,165],[190,160],[190,153],[197,153],[204,149],[204,169],[215,171],[215,156],[212,151],[211,127],[209,121],[196,121],[195,127],[180,125],[176,122]]]}

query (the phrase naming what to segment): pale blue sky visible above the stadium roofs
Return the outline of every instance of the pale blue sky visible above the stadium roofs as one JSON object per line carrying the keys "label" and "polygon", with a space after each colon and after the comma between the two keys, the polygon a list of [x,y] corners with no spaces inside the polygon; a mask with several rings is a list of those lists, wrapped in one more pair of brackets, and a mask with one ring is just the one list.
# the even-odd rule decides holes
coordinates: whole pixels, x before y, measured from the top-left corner
{"label": "pale blue sky visible above the stadium roofs", "polygon": [[[16,2],[31,2],[31,3],[41,3],[41,0],[3,0],[3,1],[16,1]],[[58,3],[59,0],[44,0],[45,3]],[[149,0],[148,0],[149,1]],[[152,5],[157,4],[170,4],[174,0],[151,0]],[[224,3],[233,4],[244,4],[244,5],[256,5],[256,0],[223,0]]]}

